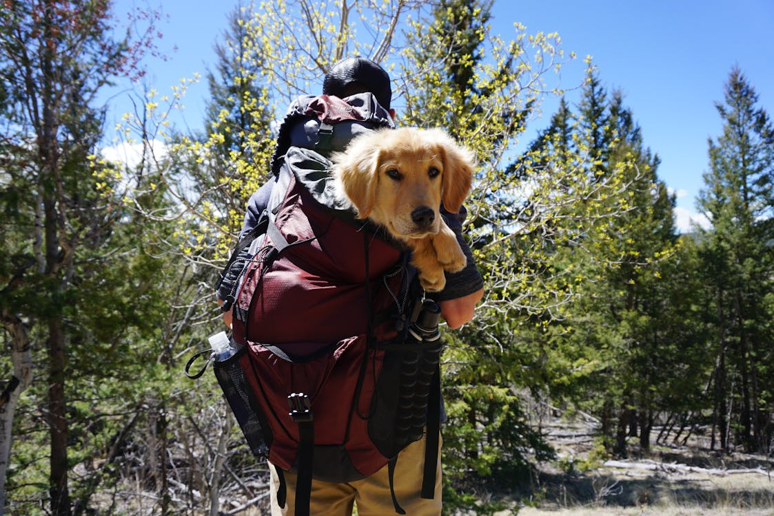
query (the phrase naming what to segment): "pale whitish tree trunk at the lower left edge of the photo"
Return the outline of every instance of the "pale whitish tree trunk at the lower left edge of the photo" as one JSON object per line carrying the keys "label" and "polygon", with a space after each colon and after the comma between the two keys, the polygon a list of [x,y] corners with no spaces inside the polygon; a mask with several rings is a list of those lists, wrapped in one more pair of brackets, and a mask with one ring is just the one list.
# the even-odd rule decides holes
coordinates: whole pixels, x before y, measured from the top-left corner
{"label": "pale whitish tree trunk at the lower left edge of the photo", "polygon": [[5,493],[5,475],[11,457],[13,416],[19,395],[33,381],[33,354],[29,348],[26,325],[19,317],[2,312],[5,331],[11,336],[13,376],[0,395],[0,516],[5,514],[8,497]]}

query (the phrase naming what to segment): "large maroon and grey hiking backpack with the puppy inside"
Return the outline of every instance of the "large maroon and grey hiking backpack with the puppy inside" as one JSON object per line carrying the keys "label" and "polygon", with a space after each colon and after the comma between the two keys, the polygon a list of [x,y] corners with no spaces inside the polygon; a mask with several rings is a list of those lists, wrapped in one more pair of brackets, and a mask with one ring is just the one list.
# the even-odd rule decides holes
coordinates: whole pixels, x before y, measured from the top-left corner
{"label": "large maroon and grey hiking backpack with the puppy inside", "polygon": [[308,148],[283,155],[269,209],[238,246],[252,246],[233,304],[242,348],[214,365],[252,452],[278,468],[281,506],[282,470],[298,474],[296,514],[308,514],[312,478],[388,465],[392,487],[425,426],[423,497],[437,464],[440,309],[399,243],[337,205],[329,170]]}

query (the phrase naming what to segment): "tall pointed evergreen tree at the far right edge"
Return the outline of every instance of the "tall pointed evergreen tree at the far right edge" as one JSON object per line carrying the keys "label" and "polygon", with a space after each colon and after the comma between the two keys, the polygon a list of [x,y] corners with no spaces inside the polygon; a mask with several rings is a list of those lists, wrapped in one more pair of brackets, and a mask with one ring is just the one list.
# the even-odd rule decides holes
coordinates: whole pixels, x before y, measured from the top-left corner
{"label": "tall pointed evergreen tree at the far right edge", "polygon": [[774,363],[765,349],[772,341],[774,130],[758,100],[741,71],[731,70],[724,103],[715,106],[723,134],[709,141],[698,201],[711,221],[700,230],[701,256],[714,304],[714,412],[724,450],[768,450],[772,436]]}

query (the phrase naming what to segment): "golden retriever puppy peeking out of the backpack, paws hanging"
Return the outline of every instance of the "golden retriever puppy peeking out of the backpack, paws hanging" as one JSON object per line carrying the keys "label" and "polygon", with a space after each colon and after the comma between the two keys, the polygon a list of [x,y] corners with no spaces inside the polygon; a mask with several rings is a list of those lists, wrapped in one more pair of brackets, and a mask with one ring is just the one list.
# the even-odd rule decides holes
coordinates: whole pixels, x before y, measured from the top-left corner
{"label": "golden retriever puppy peeking out of the backpack, paws hanging", "polygon": [[439,209],[459,211],[473,153],[440,129],[403,127],[362,134],[332,159],[340,199],[409,246],[426,291],[443,290],[444,270],[462,270],[466,258]]}

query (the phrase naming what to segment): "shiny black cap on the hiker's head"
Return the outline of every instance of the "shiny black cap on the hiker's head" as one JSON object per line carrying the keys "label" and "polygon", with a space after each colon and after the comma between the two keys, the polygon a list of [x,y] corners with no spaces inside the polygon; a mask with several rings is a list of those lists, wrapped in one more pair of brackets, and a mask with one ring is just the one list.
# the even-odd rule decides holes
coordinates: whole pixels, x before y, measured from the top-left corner
{"label": "shiny black cap on the hiker's head", "polygon": [[323,81],[323,94],[349,97],[354,93],[370,92],[377,102],[389,110],[392,87],[389,74],[382,66],[365,57],[348,57],[330,68]]}

